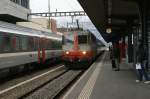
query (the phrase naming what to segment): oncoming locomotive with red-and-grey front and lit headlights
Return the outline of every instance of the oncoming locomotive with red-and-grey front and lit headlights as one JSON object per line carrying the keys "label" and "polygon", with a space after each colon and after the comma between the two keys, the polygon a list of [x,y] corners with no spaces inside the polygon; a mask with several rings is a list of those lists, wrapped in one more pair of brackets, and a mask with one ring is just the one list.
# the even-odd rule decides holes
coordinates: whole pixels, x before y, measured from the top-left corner
{"label": "oncoming locomotive with red-and-grey front and lit headlights", "polygon": [[87,68],[97,55],[96,37],[90,31],[67,32],[63,38],[66,67]]}

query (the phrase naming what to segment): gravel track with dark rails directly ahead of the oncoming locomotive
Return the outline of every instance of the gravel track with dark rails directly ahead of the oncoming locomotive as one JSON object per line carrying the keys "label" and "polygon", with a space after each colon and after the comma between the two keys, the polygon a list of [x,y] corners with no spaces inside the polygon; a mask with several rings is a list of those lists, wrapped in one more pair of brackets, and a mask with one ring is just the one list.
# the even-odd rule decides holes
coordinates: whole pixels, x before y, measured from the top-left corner
{"label": "gravel track with dark rails directly ahead of the oncoming locomotive", "polygon": [[65,90],[65,88],[67,88],[68,85],[78,78],[82,73],[83,72],[81,70],[69,70],[53,81],[45,84],[38,90],[21,97],[21,99],[53,99],[59,95],[62,90]]}

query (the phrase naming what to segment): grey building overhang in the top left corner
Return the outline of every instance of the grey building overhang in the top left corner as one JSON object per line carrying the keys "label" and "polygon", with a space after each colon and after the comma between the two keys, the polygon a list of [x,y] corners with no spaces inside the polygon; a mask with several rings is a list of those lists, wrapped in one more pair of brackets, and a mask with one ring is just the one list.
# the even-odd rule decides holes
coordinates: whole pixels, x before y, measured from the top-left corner
{"label": "grey building overhang in the top left corner", "polygon": [[1,0],[0,7],[1,21],[16,23],[28,20],[29,0]]}

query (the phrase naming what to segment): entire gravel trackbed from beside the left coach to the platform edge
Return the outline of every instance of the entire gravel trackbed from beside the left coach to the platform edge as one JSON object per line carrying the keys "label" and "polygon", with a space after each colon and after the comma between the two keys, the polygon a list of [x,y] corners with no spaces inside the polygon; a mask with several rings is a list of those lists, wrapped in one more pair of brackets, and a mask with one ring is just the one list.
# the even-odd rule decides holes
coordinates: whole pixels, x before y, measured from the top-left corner
{"label": "entire gravel trackbed from beside the left coach to the platform edge", "polygon": [[51,99],[82,73],[61,65],[25,77],[26,80],[15,79],[0,85],[0,99]]}

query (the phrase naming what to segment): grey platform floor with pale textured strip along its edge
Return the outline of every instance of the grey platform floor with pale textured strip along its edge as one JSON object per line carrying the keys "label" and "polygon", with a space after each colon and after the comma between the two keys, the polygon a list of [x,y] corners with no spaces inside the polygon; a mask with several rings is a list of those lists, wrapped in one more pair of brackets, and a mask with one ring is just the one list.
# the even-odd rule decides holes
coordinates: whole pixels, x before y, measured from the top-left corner
{"label": "grey platform floor with pale textured strip along its edge", "polygon": [[108,52],[81,76],[63,99],[150,99],[150,85],[137,83],[135,71],[122,62],[113,71]]}

